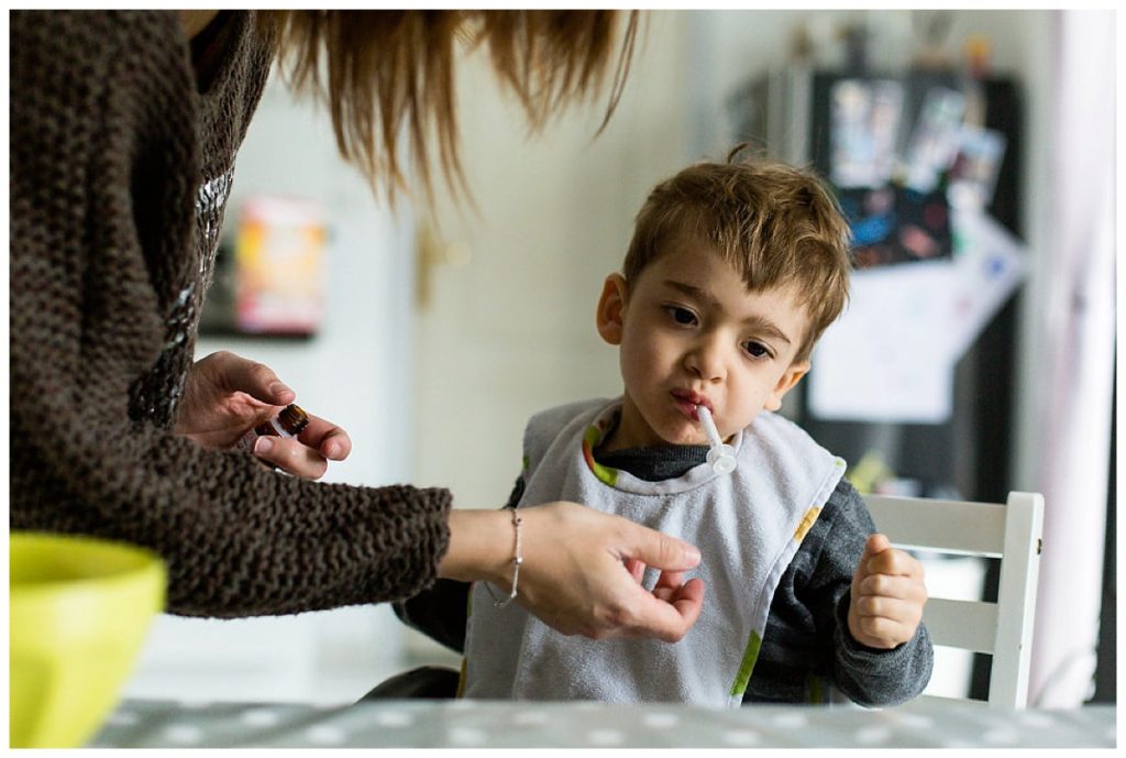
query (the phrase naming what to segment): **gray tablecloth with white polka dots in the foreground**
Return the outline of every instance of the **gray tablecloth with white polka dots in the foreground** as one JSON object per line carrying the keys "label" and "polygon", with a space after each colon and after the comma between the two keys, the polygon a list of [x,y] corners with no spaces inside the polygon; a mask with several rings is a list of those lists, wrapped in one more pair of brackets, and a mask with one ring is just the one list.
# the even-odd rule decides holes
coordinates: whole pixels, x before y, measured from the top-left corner
{"label": "gray tablecloth with white polka dots in the foreground", "polygon": [[1116,707],[885,710],[383,701],[351,706],[126,701],[92,748],[1112,748]]}

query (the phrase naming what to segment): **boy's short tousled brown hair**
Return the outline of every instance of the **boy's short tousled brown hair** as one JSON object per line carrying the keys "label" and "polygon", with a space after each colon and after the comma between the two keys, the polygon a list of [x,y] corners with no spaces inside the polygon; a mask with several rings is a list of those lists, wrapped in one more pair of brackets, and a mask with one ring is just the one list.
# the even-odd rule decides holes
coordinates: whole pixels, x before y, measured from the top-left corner
{"label": "boy's short tousled brown hair", "polygon": [[696,163],[659,184],[637,213],[623,276],[635,282],[673,242],[717,251],[751,292],[793,286],[810,316],[796,362],[848,300],[849,226],[812,171],[763,159]]}

